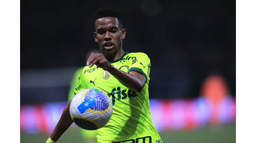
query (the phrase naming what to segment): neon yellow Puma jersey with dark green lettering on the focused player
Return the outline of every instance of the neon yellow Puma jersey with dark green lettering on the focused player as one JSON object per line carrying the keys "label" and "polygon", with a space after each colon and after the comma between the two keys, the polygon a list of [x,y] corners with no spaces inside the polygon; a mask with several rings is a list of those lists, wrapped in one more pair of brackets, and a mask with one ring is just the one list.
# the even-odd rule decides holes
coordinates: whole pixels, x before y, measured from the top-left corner
{"label": "neon yellow Puma jersey with dark green lettering on the focused player", "polygon": [[125,53],[110,64],[127,73],[139,71],[147,81],[141,92],[134,92],[102,68],[84,67],[75,94],[85,88],[97,88],[106,92],[113,104],[110,121],[97,130],[98,142],[162,143],[149,110],[150,59],[145,53]]}

